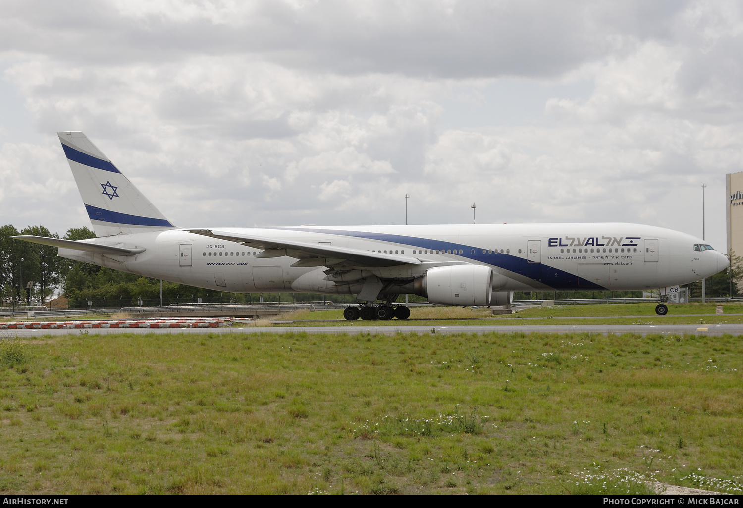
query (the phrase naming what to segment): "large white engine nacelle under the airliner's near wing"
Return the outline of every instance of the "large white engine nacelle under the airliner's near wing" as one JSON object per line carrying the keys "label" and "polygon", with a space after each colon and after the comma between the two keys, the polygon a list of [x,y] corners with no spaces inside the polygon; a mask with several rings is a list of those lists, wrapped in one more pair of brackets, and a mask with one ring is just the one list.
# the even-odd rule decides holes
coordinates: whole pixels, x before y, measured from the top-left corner
{"label": "large white engine nacelle under the airliner's near wing", "polygon": [[[437,267],[416,279],[415,293],[438,305],[490,305],[493,269],[475,264]],[[425,294],[421,294],[425,293]]]}

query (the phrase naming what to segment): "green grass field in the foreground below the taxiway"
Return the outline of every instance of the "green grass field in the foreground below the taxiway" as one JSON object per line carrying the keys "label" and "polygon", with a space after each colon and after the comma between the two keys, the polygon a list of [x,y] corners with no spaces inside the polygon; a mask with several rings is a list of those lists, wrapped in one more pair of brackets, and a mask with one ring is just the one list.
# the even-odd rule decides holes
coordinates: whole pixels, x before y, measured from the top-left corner
{"label": "green grass field in the foreground below the taxiway", "polygon": [[0,341],[0,492],[741,493],[738,337]]}

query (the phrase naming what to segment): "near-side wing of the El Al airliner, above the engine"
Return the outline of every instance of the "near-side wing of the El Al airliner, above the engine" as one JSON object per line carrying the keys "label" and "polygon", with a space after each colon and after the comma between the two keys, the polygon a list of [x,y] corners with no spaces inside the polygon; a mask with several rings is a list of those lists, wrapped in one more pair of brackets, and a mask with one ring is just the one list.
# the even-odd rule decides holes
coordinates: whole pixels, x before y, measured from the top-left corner
{"label": "near-side wing of the El Al airliner, above the engine", "polygon": [[371,250],[350,249],[334,245],[313,244],[308,241],[279,240],[276,238],[247,235],[244,233],[217,231],[212,229],[185,229],[197,235],[210,236],[263,250],[256,258],[278,258],[288,255],[298,258],[292,266],[313,267],[346,264],[354,267],[392,267],[400,264],[421,264],[417,258],[407,255],[384,254]]}

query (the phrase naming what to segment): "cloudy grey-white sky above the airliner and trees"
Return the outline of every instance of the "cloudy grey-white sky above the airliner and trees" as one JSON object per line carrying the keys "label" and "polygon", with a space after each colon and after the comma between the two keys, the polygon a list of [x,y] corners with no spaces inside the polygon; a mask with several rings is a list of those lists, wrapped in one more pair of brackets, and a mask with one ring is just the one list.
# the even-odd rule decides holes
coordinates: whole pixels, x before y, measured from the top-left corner
{"label": "cloudy grey-white sky above the airliner and trees", "polygon": [[628,221],[725,248],[740,1],[0,0],[0,222],[81,130],[183,227]]}

